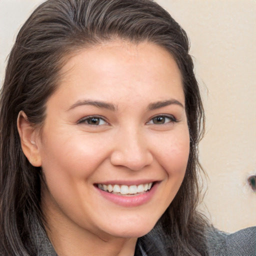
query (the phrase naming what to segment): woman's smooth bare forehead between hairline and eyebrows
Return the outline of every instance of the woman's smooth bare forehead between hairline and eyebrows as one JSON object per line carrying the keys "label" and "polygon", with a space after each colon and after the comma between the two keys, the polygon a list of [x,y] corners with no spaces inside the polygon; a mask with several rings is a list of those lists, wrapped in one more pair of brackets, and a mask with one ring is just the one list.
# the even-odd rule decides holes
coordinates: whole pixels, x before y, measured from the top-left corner
{"label": "woman's smooth bare forehead between hairline and eyebrows", "polygon": [[173,94],[184,103],[181,80],[174,58],[163,47],[112,41],[68,56],[57,90],[68,91],[70,97],[80,91],[86,97],[96,94],[107,100],[129,95],[141,100],[151,91],[158,92],[156,97]]}

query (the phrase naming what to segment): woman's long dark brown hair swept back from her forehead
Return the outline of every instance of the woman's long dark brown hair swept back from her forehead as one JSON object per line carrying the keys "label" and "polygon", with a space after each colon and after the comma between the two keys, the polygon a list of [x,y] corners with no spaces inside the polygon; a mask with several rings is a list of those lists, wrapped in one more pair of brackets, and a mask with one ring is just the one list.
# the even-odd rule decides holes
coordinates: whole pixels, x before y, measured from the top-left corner
{"label": "woman's long dark brown hair swept back from her forehead", "polygon": [[18,32],[0,93],[1,255],[35,255],[31,223],[44,226],[43,173],[22,152],[16,125],[19,111],[35,127],[42,127],[47,99],[58,86],[66,56],[116,39],[154,43],[173,56],[182,75],[190,135],[183,182],[153,230],[138,241],[147,255],[207,254],[207,220],[197,211],[201,198],[197,145],[204,112],[185,31],[153,0],[47,0]]}

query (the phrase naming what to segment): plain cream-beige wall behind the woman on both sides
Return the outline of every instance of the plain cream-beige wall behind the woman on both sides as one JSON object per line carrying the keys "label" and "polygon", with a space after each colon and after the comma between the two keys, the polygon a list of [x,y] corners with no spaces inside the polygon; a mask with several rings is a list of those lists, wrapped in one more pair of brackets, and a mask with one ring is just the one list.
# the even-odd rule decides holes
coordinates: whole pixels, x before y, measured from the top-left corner
{"label": "plain cream-beige wall behind the woman on both sides", "polygon": [[[0,81],[18,28],[42,1],[0,0]],[[157,2],[191,40],[207,118],[200,159],[211,221],[225,231],[256,225],[256,193],[246,182],[256,174],[256,1]]]}

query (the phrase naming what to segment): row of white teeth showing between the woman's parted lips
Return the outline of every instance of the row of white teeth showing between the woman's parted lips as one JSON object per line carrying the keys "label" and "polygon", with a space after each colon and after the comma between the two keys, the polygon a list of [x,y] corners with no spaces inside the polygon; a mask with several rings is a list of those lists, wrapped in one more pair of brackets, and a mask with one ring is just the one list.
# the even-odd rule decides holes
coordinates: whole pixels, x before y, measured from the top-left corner
{"label": "row of white teeth showing between the woman's parted lips", "polygon": [[147,192],[152,188],[154,182],[149,182],[139,185],[118,185],[118,184],[96,184],[96,186],[108,193],[119,194],[119,195],[137,195]]}

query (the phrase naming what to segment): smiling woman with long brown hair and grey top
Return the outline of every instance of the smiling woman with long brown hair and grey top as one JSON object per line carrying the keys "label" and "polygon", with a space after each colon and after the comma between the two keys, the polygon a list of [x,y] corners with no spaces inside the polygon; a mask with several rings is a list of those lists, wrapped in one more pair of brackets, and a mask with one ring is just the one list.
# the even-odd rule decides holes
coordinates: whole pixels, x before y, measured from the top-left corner
{"label": "smiling woman with long brown hair and grey top", "polygon": [[188,49],[150,0],[32,13],[1,91],[2,255],[254,253],[254,229],[227,239],[196,209],[204,115]]}

